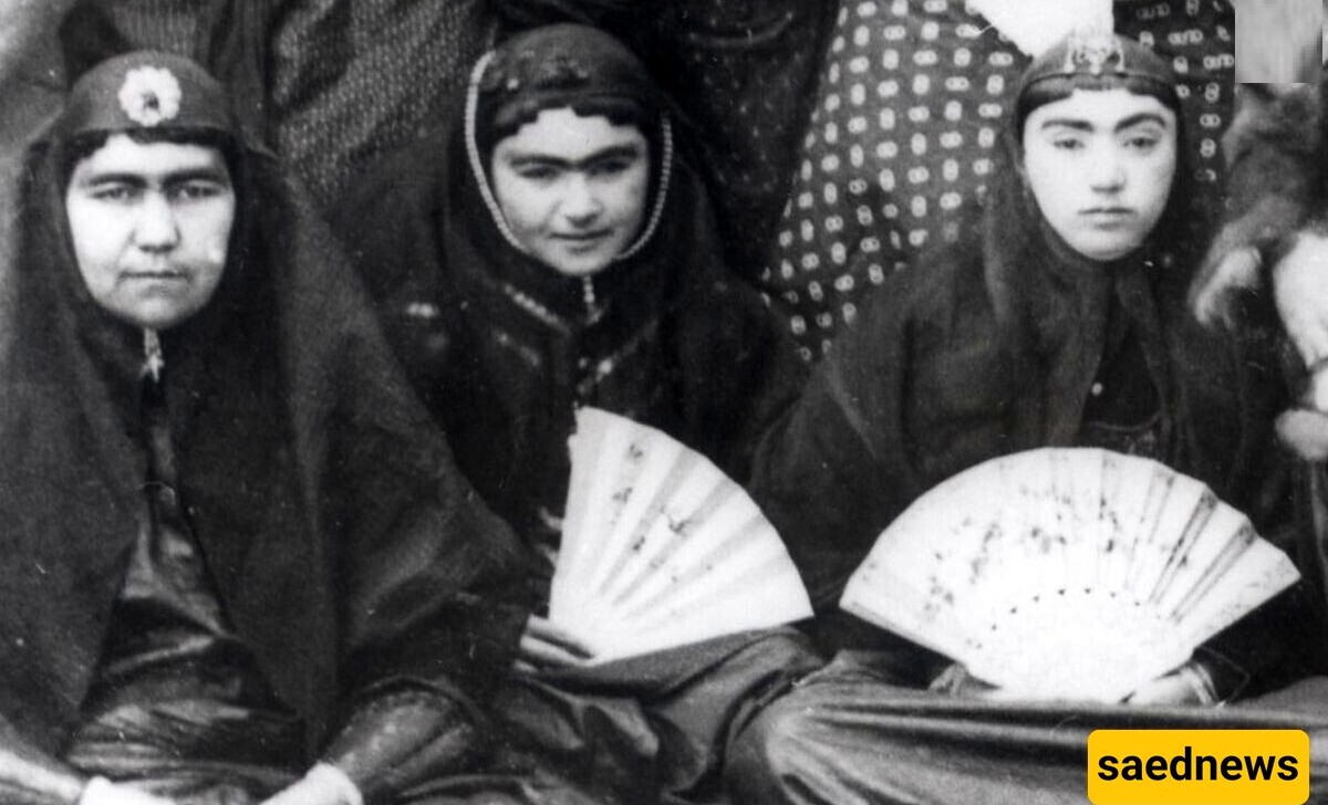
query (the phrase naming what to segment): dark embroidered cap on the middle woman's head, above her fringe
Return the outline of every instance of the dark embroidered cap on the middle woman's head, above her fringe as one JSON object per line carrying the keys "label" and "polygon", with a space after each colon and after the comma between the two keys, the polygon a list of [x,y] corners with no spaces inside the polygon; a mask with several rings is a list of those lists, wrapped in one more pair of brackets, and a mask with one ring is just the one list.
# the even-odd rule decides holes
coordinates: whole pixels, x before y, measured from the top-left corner
{"label": "dark embroidered cap on the middle woman's head, above her fringe", "polygon": [[473,77],[475,139],[487,154],[544,109],[657,130],[663,95],[645,65],[612,36],[586,25],[537,28],[505,42]]}

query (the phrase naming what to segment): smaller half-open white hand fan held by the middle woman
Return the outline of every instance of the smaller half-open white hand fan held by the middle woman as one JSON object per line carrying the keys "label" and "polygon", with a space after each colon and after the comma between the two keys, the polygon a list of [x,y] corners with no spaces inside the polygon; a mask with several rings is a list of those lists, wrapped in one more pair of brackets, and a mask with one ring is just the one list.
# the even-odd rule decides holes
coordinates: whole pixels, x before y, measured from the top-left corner
{"label": "smaller half-open white hand fan held by the middle woman", "polygon": [[548,619],[596,660],[811,617],[774,528],[701,454],[598,408],[568,444]]}

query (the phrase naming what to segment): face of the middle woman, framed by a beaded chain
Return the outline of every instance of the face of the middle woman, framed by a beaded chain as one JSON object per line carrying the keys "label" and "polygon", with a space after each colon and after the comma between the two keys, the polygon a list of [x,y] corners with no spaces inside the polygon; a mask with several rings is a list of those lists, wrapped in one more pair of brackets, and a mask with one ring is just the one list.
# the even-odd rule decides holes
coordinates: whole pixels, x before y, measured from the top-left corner
{"label": "face of the middle woman, framed by a beaded chain", "polygon": [[546,109],[498,142],[494,196],[517,240],[574,277],[595,275],[631,244],[645,219],[649,147],[636,126]]}

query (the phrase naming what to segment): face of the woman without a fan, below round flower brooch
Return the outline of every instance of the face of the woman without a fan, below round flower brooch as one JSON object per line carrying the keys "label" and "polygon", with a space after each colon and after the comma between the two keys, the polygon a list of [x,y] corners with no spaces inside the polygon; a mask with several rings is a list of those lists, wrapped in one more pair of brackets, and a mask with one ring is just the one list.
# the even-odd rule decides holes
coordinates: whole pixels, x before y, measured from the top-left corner
{"label": "face of the woman without a fan, below round flower brooch", "polygon": [[74,166],[65,212],[97,304],[166,329],[198,313],[222,280],[235,190],[214,147],[116,134]]}

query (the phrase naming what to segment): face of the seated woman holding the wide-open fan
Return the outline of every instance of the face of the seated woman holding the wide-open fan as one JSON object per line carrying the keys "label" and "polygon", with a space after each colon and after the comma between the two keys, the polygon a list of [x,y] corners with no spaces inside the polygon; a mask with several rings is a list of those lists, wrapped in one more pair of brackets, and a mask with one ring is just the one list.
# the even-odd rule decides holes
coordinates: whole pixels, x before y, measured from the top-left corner
{"label": "face of the seated woman holding the wide-open fan", "polygon": [[1035,109],[1023,141],[1038,210],[1085,257],[1123,257],[1162,217],[1175,179],[1177,121],[1157,98],[1074,90]]}

